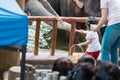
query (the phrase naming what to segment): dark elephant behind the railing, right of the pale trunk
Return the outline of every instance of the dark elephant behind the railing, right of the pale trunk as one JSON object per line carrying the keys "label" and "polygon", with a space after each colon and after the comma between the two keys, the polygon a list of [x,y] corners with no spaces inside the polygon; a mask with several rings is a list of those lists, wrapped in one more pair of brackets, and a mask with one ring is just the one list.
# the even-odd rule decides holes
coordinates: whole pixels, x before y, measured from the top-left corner
{"label": "dark elephant behind the railing, right of the pale trunk", "polygon": [[[100,0],[47,0],[53,9],[66,17],[100,17]],[[79,4],[78,4],[79,3]],[[77,23],[77,29],[86,28],[84,23]],[[69,32],[67,32],[69,40]],[[79,42],[79,33],[75,35],[75,43]]]}

